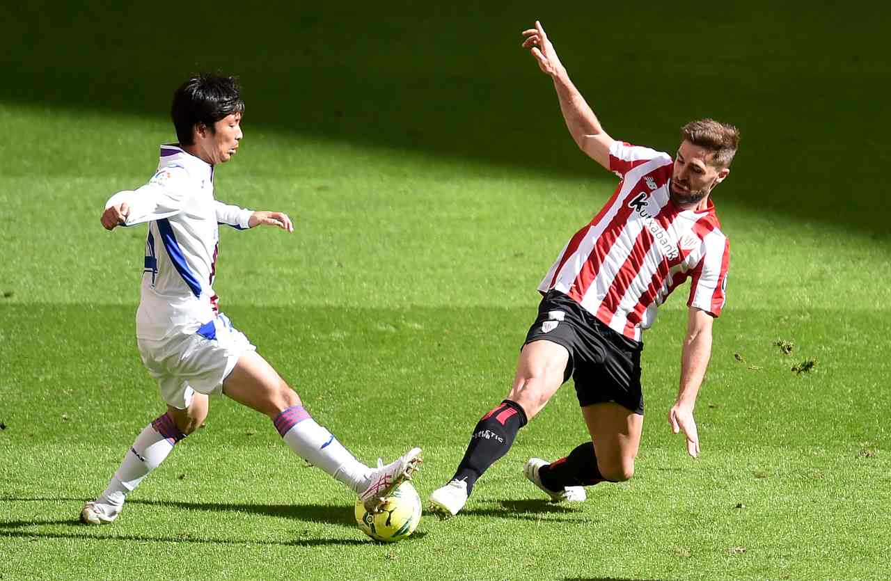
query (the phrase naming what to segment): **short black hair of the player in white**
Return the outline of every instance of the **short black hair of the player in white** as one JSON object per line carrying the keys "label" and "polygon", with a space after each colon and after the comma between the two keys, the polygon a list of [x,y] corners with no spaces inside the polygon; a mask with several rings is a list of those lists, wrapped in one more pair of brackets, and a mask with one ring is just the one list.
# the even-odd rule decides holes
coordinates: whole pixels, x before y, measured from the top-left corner
{"label": "short black hair of the player in white", "polygon": [[192,75],[173,94],[170,117],[180,145],[192,145],[192,129],[202,124],[214,131],[214,123],[233,113],[243,113],[238,78],[200,73]]}

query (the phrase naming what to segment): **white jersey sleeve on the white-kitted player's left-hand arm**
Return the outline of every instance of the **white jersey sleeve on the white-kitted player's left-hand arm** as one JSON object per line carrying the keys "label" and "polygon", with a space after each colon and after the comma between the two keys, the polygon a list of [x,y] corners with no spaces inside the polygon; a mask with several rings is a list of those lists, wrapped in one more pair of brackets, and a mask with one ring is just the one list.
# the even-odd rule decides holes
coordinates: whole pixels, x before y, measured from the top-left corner
{"label": "white jersey sleeve on the white-kitted player's left-hand arm", "polygon": [[189,176],[185,168],[159,169],[148,184],[137,190],[118,192],[105,202],[105,208],[126,202],[130,207],[126,226],[179,214],[189,192]]}

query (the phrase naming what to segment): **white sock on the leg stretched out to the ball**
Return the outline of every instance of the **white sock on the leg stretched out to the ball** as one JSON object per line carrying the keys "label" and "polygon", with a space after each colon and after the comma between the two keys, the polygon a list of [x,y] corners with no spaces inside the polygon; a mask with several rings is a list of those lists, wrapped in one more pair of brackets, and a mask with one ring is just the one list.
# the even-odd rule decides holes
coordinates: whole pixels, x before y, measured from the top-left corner
{"label": "white sock on the leg stretched out to the ball", "polygon": [[315,422],[302,406],[295,405],[274,421],[290,449],[307,462],[318,466],[343,482],[356,494],[371,483],[371,469],[356,460],[331,432]]}

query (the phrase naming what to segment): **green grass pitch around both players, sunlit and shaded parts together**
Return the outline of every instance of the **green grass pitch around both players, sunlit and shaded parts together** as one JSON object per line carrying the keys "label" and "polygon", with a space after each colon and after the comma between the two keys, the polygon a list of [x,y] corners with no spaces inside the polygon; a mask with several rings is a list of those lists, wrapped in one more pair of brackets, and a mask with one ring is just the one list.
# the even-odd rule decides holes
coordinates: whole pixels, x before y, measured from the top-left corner
{"label": "green grass pitch around both players, sunlit and shaded parts together", "polygon": [[[225,29],[212,28],[176,45],[189,62],[170,61],[159,20],[135,11],[12,9],[20,26],[0,42],[48,40],[0,52],[14,136],[0,143],[0,579],[887,576],[887,17],[459,8],[377,26],[246,9],[239,50],[220,50]],[[59,17],[39,18],[50,9]],[[110,193],[151,176],[156,145],[173,139],[169,94],[195,62],[239,72],[248,96],[218,197],[296,224],[221,233],[225,312],[364,461],[421,445],[421,496],[451,477],[510,386],[536,284],[615,184],[575,150],[519,51],[535,17],[614,136],[670,151],[692,117],[742,128],[715,191],[732,266],[699,460],[665,421],[683,287],[645,334],[634,479],[594,487],[582,506],[542,502],[520,473],[585,438],[568,384],[462,515],[425,515],[399,544],[367,541],[352,495],[226,399],[118,522],[78,525],[162,409],[133,337],[144,229],[106,233],[98,217]],[[629,41],[632,17],[648,34]],[[95,42],[78,42],[85,30]],[[680,42],[683,30],[707,50]],[[634,74],[615,66],[617,46]],[[654,79],[681,80],[652,94]],[[805,361],[812,371],[792,371]]]}

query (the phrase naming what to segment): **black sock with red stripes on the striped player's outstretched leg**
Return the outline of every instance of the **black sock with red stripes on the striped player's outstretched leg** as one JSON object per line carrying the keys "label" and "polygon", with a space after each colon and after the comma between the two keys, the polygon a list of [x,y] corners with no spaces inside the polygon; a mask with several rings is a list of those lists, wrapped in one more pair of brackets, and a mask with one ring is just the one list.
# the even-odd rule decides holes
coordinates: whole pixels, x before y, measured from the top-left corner
{"label": "black sock with red stripes on the striped player's outstretched leg", "polygon": [[483,472],[511,449],[513,438],[526,421],[526,412],[510,399],[505,399],[478,421],[470,435],[467,452],[454,473],[454,479],[467,482],[468,495]]}

